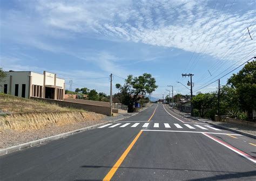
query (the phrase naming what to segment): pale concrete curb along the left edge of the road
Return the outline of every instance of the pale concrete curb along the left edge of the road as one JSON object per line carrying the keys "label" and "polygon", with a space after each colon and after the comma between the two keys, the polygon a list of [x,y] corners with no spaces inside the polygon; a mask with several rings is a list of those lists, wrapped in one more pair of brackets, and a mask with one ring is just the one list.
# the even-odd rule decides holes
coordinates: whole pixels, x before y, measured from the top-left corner
{"label": "pale concrete curb along the left edge of the road", "polygon": [[[149,108],[149,107],[147,107],[147,108]],[[146,108],[146,109],[147,109],[147,108]],[[144,109],[144,110],[146,110],[146,109]],[[134,113],[134,114],[131,115],[131,116],[134,116],[134,115],[137,115],[137,114],[139,114],[139,113],[142,113],[144,110],[142,110],[142,111],[140,111],[140,112],[138,112],[138,113]],[[85,127],[85,128],[81,128],[81,129],[69,131],[69,132],[67,132],[67,133],[62,133],[62,134],[59,134],[59,135],[55,135],[55,136],[50,136],[50,137],[42,138],[42,139],[40,139],[40,140],[35,140],[35,141],[28,142],[28,143],[19,144],[19,145],[16,145],[16,146],[14,146],[14,147],[5,148],[5,149],[0,150],[0,156],[10,154],[11,152],[23,150],[23,149],[25,149],[25,148],[34,147],[34,146],[36,146],[36,145],[40,145],[40,144],[43,144],[43,143],[47,143],[47,142],[50,142],[50,141],[53,141],[53,140],[58,140],[59,138],[65,138],[65,137],[68,137],[68,136],[71,136],[71,135],[74,135],[74,134],[77,134],[77,133],[81,133],[81,132],[86,131],[86,130],[89,130],[89,129],[95,129],[95,128],[97,128],[98,126],[101,126],[101,125],[103,125],[103,124],[107,124],[107,123],[111,123],[111,122],[116,122],[116,121],[124,120],[124,119],[127,119],[127,118],[131,117],[131,116],[122,117],[121,119],[118,119],[118,120],[107,121],[107,122],[104,122],[104,123],[95,124],[95,125],[93,125],[93,126],[89,126],[89,127]]]}

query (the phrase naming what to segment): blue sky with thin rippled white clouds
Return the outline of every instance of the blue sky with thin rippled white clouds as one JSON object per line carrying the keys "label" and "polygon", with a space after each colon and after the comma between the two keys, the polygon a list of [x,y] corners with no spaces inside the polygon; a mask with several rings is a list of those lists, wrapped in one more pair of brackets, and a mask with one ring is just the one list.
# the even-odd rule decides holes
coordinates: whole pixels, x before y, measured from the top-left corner
{"label": "blue sky with thin rippled white clouds", "polygon": [[[154,97],[166,94],[167,85],[174,85],[174,94],[188,94],[177,83],[189,80],[182,73],[194,74],[197,90],[255,56],[255,8],[254,0],[3,0],[0,67],[57,73],[66,78],[67,88],[72,79],[73,89],[106,94],[110,73],[115,84],[146,72],[159,86]],[[222,85],[230,75],[221,79]],[[214,82],[200,91],[216,87]]]}

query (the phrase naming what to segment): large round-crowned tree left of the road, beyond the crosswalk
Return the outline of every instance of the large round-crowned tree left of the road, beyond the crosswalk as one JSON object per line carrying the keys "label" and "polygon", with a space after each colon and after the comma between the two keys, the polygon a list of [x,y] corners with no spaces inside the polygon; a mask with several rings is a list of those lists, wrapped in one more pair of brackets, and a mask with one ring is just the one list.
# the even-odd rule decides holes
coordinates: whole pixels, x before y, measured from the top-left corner
{"label": "large round-crowned tree left of the road, beyond the crosswalk", "polygon": [[151,94],[157,87],[156,79],[147,73],[138,77],[128,75],[123,86],[120,83],[116,84],[116,88],[120,91],[120,102],[127,105],[128,112],[134,111],[134,103],[142,99],[140,95],[145,95],[146,93]]}

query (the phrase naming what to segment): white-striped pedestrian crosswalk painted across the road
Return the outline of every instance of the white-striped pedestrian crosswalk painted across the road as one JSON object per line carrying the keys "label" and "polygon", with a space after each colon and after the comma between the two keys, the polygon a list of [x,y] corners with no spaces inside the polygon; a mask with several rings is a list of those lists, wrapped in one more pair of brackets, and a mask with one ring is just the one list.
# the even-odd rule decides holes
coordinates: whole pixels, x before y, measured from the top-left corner
{"label": "white-striped pedestrian crosswalk painted across the road", "polygon": [[216,131],[220,131],[220,129],[214,128],[210,125],[206,125],[206,124],[201,124],[201,126],[199,124],[178,124],[178,123],[109,123],[109,124],[105,124],[103,126],[100,126],[98,128],[115,128],[115,127],[119,127],[119,128],[125,128],[125,127],[130,127],[130,128],[136,128],[136,127],[142,127],[142,128],[149,128],[149,127],[153,127],[153,128],[178,128],[178,129],[184,129],[184,128],[188,128],[188,129],[203,129],[203,130],[208,130],[208,129],[213,129]]}

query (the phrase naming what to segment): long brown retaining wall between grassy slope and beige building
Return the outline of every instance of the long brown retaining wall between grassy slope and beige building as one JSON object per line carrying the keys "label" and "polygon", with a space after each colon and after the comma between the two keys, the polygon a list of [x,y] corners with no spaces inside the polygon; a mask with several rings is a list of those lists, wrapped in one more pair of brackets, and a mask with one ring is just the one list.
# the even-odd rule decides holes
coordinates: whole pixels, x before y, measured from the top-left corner
{"label": "long brown retaining wall between grassy slope and beige building", "polygon": [[56,103],[57,105],[59,105],[61,107],[84,109],[89,112],[95,112],[95,113],[111,116],[110,107],[90,105],[90,104],[77,103],[77,102],[59,101],[59,100],[53,100],[53,99],[35,98],[35,97],[31,97],[30,99],[44,101],[44,102],[48,102],[48,103]]}

